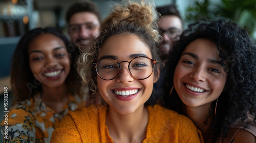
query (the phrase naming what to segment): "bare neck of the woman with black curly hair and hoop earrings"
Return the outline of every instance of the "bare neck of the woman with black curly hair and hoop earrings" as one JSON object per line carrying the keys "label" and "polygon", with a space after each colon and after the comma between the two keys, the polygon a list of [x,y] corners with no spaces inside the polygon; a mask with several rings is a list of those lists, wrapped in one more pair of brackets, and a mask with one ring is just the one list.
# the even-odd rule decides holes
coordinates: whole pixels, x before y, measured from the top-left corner
{"label": "bare neck of the woman with black curly hair and hoop earrings", "polygon": [[211,103],[199,106],[199,107],[188,107],[185,105],[186,115],[194,122],[197,128],[202,132],[204,136],[209,129],[212,115],[209,116],[207,120],[207,125],[205,125],[206,117],[209,115]]}

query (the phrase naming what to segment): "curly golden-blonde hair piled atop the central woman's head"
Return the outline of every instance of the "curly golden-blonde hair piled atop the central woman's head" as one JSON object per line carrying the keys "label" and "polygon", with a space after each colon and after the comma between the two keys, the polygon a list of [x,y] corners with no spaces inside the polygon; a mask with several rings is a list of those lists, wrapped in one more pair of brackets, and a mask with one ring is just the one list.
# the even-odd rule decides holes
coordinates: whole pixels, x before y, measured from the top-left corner
{"label": "curly golden-blonde hair piled atop the central woman's head", "polygon": [[101,29],[110,29],[119,26],[120,23],[132,23],[145,29],[156,41],[160,43],[162,38],[158,33],[157,20],[160,14],[156,12],[154,1],[127,0],[115,5],[112,13],[103,21]]}

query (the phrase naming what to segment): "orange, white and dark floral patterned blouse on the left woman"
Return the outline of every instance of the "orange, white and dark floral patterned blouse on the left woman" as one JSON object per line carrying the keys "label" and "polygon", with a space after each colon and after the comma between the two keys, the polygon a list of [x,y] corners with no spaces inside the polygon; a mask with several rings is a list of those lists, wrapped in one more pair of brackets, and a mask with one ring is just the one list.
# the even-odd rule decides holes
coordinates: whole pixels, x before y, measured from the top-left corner
{"label": "orange, white and dark floral patterned blouse on the left woman", "polygon": [[[50,142],[52,132],[63,116],[70,110],[84,106],[78,96],[69,95],[67,104],[61,113],[55,113],[42,102],[37,94],[28,100],[17,102],[8,113],[8,135],[4,142]],[[4,120],[1,123],[2,135],[5,137]]]}

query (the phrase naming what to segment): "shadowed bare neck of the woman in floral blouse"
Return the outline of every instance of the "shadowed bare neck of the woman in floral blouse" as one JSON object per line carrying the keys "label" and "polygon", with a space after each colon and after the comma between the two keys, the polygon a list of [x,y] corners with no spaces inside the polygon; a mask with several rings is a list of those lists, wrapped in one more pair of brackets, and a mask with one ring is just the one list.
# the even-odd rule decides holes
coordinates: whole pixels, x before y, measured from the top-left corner
{"label": "shadowed bare neck of the woman in floral blouse", "polygon": [[62,111],[68,101],[68,96],[66,84],[54,88],[42,85],[41,100],[57,113]]}

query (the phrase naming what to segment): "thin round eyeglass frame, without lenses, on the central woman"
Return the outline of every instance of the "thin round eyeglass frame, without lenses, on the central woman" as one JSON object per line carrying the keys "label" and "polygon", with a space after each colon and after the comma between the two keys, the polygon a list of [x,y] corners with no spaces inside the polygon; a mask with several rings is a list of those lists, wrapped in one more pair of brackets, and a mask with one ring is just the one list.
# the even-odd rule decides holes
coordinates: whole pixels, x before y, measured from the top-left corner
{"label": "thin round eyeglass frame, without lenses, on the central woman", "polygon": [[[131,73],[131,70],[130,70],[130,64],[131,64],[131,62],[132,62],[134,59],[140,58],[140,57],[150,59],[150,60],[152,61],[152,63],[153,63],[152,73],[151,73],[148,77],[146,77],[146,78],[144,78],[144,79],[135,78],[135,77],[133,76],[133,74]],[[127,63],[129,63],[129,64],[128,64],[129,73],[130,73],[130,75],[131,75],[133,78],[135,78],[135,79],[137,79],[137,80],[145,80],[145,79],[149,78],[149,77],[153,74],[154,69],[155,69],[155,65],[156,65],[156,63],[158,62],[157,59],[151,59],[151,58],[148,58],[148,57],[146,57],[146,56],[137,56],[137,57],[134,57],[130,62],[129,62],[129,61],[121,61],[121,62],[118,62],[116,59],[111,58],[111,57],[109,57],[109,58],[102,58],[102,59],[113,59],[113,60],[115,60],[115,61],[118,63],[118,65],[119,65],[118,74],[117,74],[114,78],[109,79],[109,80],[115,79],[115,78],[120,74],[120,71],[121,71],[121,63],[122,63],[122,62],[127,62]],[[100,59],[100,60],[102,60],[102,59]],[[98,60],[97,62],[92,62],[92,65],[95,67],[96,72],[97,72],[97,75],[98,75],[101,79],[103,79],[103,78],[99,75],[98,70],[97,70],[97,63],[98,63],[100,60]],[[106,79],[103,79],[103,80],[106,80]]]}

